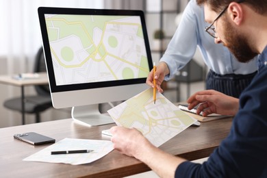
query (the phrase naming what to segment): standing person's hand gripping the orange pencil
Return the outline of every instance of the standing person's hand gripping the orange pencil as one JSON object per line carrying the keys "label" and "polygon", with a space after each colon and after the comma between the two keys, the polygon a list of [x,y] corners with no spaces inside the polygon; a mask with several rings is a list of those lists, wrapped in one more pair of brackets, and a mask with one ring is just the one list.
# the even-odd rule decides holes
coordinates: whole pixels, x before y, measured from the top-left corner
{"label": "standing person's hand gripping the orange pencil", "polygon": [[[168,70],[168,66],[165,62],[160,62],[157,66],[157,70],[155,72],[155,80],[156,80],[156,87],[159,92],[163,92],[162,88],[160,87],[162,81],[164,81],[165,75],[168,75],[170,72]],[[154,88],[153,84],[153,69],[150,71],[149,76],[147,76],[147,84]]]}

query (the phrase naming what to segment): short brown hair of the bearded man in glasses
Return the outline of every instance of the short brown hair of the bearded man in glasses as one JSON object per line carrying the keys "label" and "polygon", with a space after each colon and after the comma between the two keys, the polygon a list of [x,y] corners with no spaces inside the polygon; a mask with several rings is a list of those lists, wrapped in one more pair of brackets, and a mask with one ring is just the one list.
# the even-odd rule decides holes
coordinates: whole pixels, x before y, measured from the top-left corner
{"label": "short brown hair of the bearded man in glasses", "polygon": [[[196,0],[196,3],[202,5],[207,3],[211,5],[212,10],[220,12],[231,2],[239,2],[238,0]],[[267,14],[267,0],[244,0],[243,3],[248,4],[258,14]]]}

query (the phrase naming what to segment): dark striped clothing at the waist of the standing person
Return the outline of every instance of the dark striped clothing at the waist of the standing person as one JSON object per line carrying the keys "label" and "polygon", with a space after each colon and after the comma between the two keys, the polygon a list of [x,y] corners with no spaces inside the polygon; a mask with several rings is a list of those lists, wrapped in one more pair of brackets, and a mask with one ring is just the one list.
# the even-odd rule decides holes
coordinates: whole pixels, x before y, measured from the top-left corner
{"label": "dark striped clothing at the waist of the standing person", "polygon": [[249,86],[256,74],[257,71],[248,75],[219,75],[214,73],[214,71],[209,70],[206,79],[206,88],[207,90],[217,90],[229,96],[239,98],[241,92],[246,86]]}

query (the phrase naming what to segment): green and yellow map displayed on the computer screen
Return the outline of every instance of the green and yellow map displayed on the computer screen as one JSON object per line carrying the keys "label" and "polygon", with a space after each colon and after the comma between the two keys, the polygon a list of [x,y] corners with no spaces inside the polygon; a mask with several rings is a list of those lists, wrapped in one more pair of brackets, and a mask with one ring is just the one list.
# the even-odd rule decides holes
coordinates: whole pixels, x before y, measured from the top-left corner
{"label": "green and yellow map displayed on the computer screen", "polygon": [[45,15],[57,86],[146,78],[139,16]]}

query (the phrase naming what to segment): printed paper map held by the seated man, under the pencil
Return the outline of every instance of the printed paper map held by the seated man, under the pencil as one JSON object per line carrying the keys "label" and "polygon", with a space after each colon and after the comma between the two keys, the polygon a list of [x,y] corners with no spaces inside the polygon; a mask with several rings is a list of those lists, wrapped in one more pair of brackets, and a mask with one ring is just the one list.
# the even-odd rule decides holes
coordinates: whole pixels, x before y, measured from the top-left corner
{"label": "printed paper map held by the seated man, under the pencil", "polygon": [[155,147],[160,147],[196,121],[160,92],[157,92],[154,104],[153,88],[144,90],[107,112],[117,125],[141,131]]}

